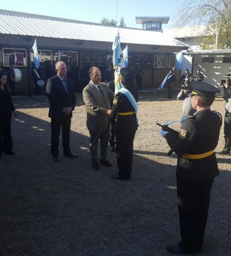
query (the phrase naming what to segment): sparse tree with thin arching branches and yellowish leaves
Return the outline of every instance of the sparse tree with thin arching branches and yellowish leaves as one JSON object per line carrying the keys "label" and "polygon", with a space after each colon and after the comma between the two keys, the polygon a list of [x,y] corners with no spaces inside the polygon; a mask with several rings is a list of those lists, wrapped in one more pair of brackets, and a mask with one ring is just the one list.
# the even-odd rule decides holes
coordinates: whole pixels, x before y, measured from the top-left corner
{"label": "sparse tree with thin arching branches and yellowish leaves", "polygon": [[[217,49],[231,49],[230,0],[182,1],[180,6],[178,16],[175,17],[175,26],[206,26],[205,33],[200,40],[202,49],[215,49],[217,31]],[[199,43],[199,40],[197,43]]]}

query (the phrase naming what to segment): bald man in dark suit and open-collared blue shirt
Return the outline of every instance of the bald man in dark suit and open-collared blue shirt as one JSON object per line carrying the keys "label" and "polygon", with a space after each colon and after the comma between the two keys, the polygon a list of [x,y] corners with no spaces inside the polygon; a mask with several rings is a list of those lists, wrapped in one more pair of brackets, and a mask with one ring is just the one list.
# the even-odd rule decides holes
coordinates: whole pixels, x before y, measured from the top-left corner
{"label": "bald man in dark suit and open-collared blue shirt", "polygon": [[62,127],[62,146],[64,156],[77,157],[70,151],[70,123],[75,108],[76,96],[73,81],[66,77],[67,66],[64,62],[55,65],[57,74],[47,80],[46,92],[50,102],[49,117],[51,118],[51,154],[53,160],[59,162],[59,134]]}

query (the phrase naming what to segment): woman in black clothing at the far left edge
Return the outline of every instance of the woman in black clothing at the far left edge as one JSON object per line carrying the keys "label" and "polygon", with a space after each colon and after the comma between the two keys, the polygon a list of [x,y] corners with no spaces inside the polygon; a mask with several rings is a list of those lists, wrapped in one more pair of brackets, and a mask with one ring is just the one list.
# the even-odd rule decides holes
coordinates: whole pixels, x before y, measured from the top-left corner
{"label": "woman in black clothing at the far left edge", "polygon": [[7,75],[6,73],[0,72],[0,157],[3,151],[8,155],[15,154],[12,152],[12,113],[14,116],[17,116],[10,96],[10,87],[7,83]]}

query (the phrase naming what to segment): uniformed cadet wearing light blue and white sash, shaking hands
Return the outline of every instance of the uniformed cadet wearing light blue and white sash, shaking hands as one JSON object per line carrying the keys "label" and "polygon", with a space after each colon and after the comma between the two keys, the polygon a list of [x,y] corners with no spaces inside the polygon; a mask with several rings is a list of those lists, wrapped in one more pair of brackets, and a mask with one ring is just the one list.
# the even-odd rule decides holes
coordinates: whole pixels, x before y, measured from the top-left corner
{"label": "uniformed cadet wearing light blue and white sash, shaking hands", "polygon": [[[130,179],[132,172],[133,140],[138,127],[136,112],[138,92],[130,86],[134,79],[132,70],[120,70],[122,88],[115,95],[110,114],[110,121],[115,125],[115,151],[119,172],[113,179]],[[116,120],[117,119],[117,120]]]}

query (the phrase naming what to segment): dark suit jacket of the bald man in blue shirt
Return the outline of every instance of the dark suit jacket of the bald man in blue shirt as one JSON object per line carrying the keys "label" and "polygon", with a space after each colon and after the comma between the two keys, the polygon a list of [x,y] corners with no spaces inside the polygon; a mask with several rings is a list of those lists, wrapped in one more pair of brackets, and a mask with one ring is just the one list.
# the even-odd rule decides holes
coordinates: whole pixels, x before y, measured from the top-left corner
{"label": "dark suit jacket of the bald man in blue shirt", "polygon": [[[76,96],[73,81],[67,77],[67,91],[62,84],[58,74],[47,80],[46,92],[50,102],[49,114],[50,118],[62,115],[65,107],[72,107],[75,109]],[[72,111],[69,114],[72,117]]]}

